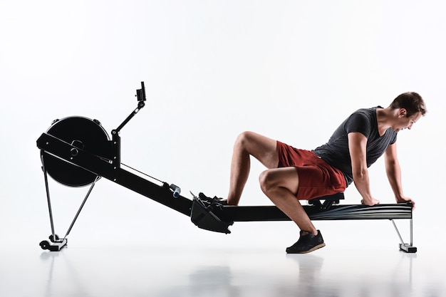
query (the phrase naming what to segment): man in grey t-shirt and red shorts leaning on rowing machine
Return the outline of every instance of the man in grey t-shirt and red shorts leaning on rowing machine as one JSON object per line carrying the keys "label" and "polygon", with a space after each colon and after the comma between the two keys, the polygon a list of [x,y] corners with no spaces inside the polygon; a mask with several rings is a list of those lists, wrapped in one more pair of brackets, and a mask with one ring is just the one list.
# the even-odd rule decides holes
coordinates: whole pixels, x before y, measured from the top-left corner
{"label": "man in grey t-shirt and red shorts leaning on rowing machine", "polygon": [[298,150],[254,132],[242,132],[234,144],[227,204],[238,205],[249,175],[250,156],[268,170],[261,172],[262,191],[301,229],[287,253],[308,253],[325,244],[299,199],[343,192],[353,182],[361,203],[378,204],[370,193],[368,167],[384,154],[385,171],[396,202],[412,202],[401,186],[396,140],[427,112],[418,93],[398,95],[388,108],[365,108],[350,115],[325,145]]}

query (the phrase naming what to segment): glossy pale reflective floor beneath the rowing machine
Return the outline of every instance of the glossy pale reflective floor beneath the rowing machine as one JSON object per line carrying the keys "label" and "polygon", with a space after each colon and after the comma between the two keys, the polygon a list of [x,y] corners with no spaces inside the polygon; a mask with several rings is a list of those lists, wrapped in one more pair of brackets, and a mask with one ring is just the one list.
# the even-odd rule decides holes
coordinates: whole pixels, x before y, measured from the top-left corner
{"label": "glossy pale reflective floor beneath the rowing machine", "polygon": [[15,249],[0,296],[446,296],[440,253],[278,249]]}

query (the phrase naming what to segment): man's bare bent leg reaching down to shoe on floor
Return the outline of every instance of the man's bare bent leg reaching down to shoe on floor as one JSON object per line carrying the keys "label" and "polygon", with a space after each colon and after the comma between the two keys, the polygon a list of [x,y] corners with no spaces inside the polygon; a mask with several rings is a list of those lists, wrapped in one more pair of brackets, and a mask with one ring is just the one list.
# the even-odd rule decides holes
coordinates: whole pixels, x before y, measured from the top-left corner
{"label": "man's bare bent leg reaching down to shoe on floor", "polygon": [[317,235],[318,231],[311,223],[299,200],[296,198],[299,187],[299,175],[295,167],[274,168],[261,172],[261,190],[276,204],[301,230]]}

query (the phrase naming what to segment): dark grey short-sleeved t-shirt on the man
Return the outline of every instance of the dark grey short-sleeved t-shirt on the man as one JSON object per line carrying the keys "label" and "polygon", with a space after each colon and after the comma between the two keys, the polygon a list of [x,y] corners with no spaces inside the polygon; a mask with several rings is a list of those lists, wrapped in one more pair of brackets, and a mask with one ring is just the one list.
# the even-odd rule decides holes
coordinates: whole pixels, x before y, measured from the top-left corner
{"label": "dark grey short-sleeved t-shirt on the man", "polygon": [[343,172],[347,185],[353,182],[351,157],[348,150],[348,133],[361,132],[367,137],[367,167],[378,160],[378,157],[383,155],[389,145],[396,142],[398,133],[391,127],[385,131],[383,136],[379,135],[378,120],[376,119],[377,108],[381,107],[356,110],[335,130],[325,145],[313,150],[329,165]]}

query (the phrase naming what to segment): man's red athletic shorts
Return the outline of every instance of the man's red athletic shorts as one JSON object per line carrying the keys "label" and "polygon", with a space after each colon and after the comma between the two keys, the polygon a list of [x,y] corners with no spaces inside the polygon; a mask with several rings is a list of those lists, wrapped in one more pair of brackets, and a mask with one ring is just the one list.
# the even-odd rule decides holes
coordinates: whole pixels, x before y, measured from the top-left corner
{"label": "man's red athletic shorts", "polygon": [[309,150],[299,150],[277,141],[278,167],[296,167],[299,174],[297,199],[313,199],[343,192],[347,183],[341,170]]}

